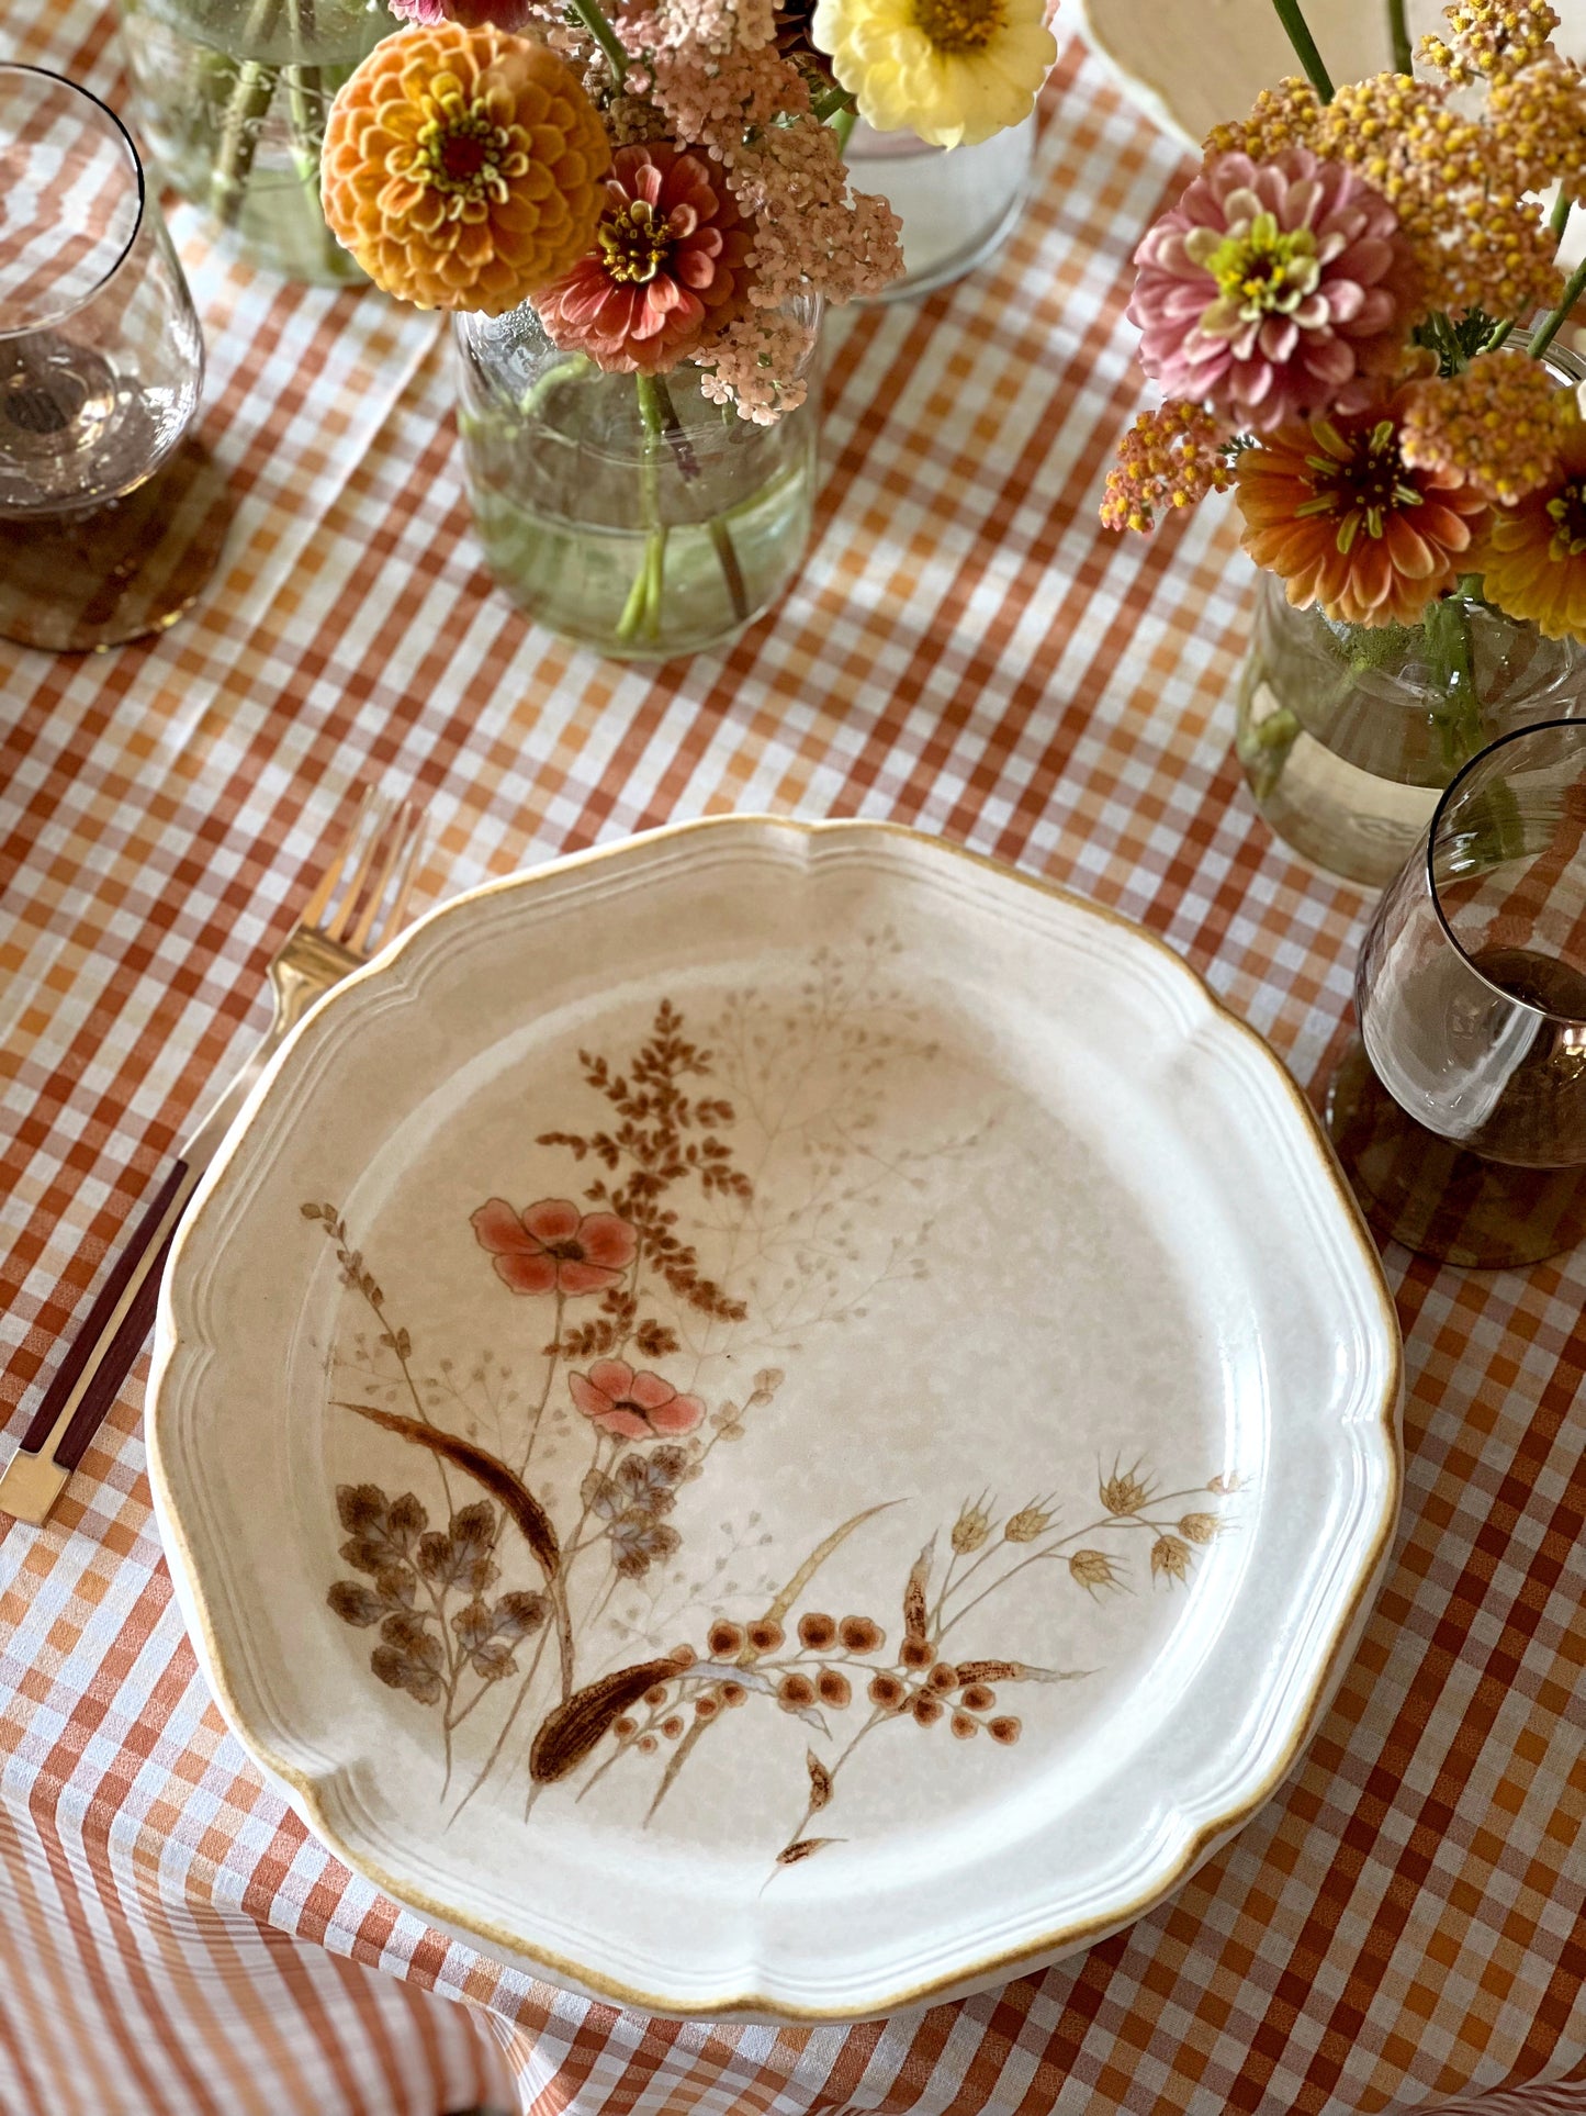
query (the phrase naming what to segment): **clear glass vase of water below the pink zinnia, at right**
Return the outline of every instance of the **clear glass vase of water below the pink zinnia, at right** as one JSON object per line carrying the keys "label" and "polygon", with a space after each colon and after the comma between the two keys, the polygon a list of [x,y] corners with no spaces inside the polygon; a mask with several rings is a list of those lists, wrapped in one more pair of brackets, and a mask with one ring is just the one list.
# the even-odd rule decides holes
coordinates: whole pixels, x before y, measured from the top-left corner
{"label": "clear glass vase of water below the pink zinnia, at right", "polygon": [[1237,751],[1256,808],[1303,859],[1387,887],[1478,749],[1586,713],[1586,647],[1449,595],[1421,624],[1341,624],[1260,576]]}

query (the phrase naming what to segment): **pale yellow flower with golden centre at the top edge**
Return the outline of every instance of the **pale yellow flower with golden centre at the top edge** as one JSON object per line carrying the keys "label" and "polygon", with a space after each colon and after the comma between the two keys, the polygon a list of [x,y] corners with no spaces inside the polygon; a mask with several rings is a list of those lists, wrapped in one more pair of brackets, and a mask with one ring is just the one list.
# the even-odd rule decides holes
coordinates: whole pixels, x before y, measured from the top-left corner
{"label": "pale yellow flower with golden centre at the top edge", "polygon": [[818,0],[812,36],[867,125],[933,146],[1028,118],[1057,57],[1045,0]]}

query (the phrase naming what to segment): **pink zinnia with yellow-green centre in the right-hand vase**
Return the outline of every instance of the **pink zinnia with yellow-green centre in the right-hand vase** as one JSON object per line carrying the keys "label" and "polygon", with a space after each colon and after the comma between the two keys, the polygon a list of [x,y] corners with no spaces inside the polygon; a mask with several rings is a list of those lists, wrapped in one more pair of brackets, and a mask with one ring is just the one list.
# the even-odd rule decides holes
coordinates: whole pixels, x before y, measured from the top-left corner
{"label": "pink zinnia with yellow-green centre in the right-hand vase", "polygon": [[1136,250],[1129,320],[1167,396],[1241,427],[1353,413],[1404,358],[1419,273],[1398,214],[1336,161],[1218,154]]}

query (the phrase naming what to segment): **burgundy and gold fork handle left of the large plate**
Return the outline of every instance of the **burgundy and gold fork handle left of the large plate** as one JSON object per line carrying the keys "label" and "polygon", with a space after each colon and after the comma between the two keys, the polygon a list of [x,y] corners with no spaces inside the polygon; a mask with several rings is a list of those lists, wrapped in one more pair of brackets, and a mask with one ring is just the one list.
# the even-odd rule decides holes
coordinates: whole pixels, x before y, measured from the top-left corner
{"label": "burgundy and gold fork handle left of the large plate", "polygon": [[[0,1511],[17,1511],[13,1500],[36,1502],[34,1494],[42,1496],[51,1483],[49,1464],[61,1471],[63,1485],[82,1460],[154,1322],[165,1257],[195,1183],[197,1170],[178,1160],[144,1208],[0,1477]],[[44,1513],[59,1485],[49,1494]],[[44,1519],[44,1513],[36,1515],[27,1504],[19,1519]]]}

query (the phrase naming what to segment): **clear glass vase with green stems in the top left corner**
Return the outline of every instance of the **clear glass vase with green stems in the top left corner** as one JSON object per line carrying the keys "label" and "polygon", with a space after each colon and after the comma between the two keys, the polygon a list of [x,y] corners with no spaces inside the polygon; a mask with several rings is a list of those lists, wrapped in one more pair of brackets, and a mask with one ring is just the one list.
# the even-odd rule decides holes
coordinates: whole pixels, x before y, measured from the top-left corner
{"label": "clear glass vase with green stems in the top left corner", "polygon": [[165,178],[250,264],[364,286],[326,229],[336,89],[395,30],[383,0],[118,0],[133,114]]}

